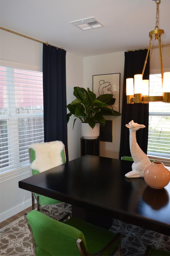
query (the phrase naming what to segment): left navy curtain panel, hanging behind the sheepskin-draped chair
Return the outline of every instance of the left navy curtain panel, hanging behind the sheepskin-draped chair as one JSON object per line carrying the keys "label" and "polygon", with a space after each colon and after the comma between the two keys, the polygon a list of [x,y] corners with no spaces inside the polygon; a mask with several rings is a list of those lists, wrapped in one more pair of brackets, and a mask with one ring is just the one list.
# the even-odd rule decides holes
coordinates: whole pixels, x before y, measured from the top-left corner
{"label": "left navy curtain panel, hanging behind the sheepskin-draped chair", "polygon": [[66,51],[43,44],[44,142],[67,146]]}

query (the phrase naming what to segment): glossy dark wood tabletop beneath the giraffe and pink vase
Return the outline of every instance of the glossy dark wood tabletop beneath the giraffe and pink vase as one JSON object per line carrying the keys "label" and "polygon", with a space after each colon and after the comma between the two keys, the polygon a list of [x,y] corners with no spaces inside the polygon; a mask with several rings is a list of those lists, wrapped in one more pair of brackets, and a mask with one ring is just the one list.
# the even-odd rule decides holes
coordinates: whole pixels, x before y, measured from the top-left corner
{"label": "glossy dark wood tabletop beneath the giraffe and pink vase", "polygon": [[86,155],[19,181],[19,187],[170,235],[170,183],[125,178],[131,161]]}

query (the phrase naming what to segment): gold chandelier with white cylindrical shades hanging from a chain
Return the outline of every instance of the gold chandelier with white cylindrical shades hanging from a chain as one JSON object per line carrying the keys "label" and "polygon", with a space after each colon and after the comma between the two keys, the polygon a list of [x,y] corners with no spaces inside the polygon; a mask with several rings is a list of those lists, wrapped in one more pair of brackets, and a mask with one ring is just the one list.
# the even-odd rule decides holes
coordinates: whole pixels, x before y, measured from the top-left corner
{"label": "gold chandelier with white cylindrical shades hanging from a chain", "polygon": [[[148,103],[148,102],[168,102],[170,103],[170,72],[163,73],[162,63],[162,52],[161,52],[161,36],[164,34],[163,29],[158,27],[159,19],[159,4],[160,0],[154,0],[156,3],[156,26],[155,29],[149,32],[150,42],[143,66],[142,74],[134,75],[133,78],[126,79],[126,97],[127,103]],[[159,57],[160,57],[160,68],[162,74],[162,96],[148,96],[149,95],[149,80],[143,80],[143,73],[145,71],[151,43],[152,36],[155,35],[155,40],[159,42]]]}

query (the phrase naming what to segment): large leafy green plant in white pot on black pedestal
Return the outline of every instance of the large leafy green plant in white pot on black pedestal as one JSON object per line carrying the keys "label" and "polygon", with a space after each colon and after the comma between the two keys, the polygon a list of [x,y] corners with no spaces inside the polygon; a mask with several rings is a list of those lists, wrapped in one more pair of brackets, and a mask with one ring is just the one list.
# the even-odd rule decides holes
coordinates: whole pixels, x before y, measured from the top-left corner
{"label": "large leafy green plant in white pot on black pedestal", "polygon": [[[82,124],[86,124],[90,130],[94,130],[96,123],[98,123],[98,129],[100,128],[99,125],[105,125],[106,120],[104,116],[121,115],[119,112],[107,107],[108,105],[113,105],[116,100],[113,98],[113,94],[102,94],[96,98],[96,94],[90,91],[89,88],[86,90],[81,87],[74,87],[74,96],[76,99],[67,105],[70,111],[70,113],[67,114],[67,123],[71,115],[76,117],[74,119],[73,128],[77,118],[81,120]],[[94,131],[92,131],[92,133],[93,132]]]}

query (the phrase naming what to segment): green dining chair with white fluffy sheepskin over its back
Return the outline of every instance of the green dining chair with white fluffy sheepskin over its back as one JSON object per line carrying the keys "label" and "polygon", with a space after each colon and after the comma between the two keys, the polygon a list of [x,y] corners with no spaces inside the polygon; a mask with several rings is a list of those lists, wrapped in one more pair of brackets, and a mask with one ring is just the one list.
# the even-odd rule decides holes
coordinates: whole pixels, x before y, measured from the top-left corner
{"label": "green dining chair with white fluffy sheepskin over its back", "polygon": [[[65,146],[61,141],[33,143],[29,145],[28,150],[31,176],[39,174],[41,172],[42,166],[42,170],[44,171],[66,162]],[[40,161],[35,163],[34,161],[38,157],[41,157]],[[51,159],[52,157],[56,158],[56,160]],[[43,159],[45,159],[45,163],[42,162]],[[36,168],[33,169],[32,166],[36,166]],[[35,199],[37,201],[38,211],[40,211],[40,207],[42,205],[61,203],[59,200],[32,192],[32,209],[35,209]]]}

